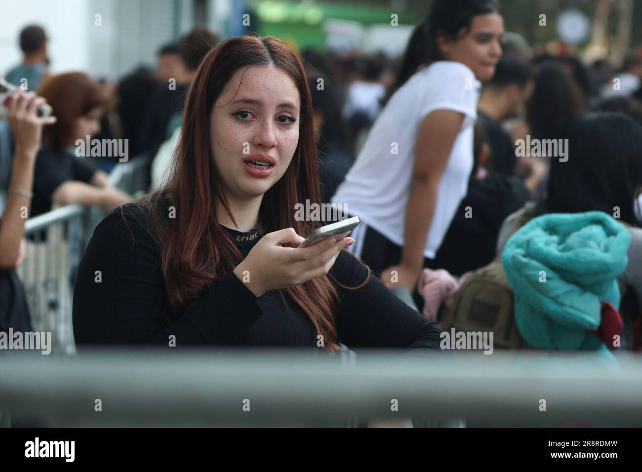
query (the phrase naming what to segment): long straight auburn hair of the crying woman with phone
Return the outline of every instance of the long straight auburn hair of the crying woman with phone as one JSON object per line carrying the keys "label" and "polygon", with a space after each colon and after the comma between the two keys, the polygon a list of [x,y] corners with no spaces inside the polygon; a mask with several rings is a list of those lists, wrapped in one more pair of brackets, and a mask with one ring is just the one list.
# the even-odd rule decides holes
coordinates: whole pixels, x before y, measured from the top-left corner
{"label": "long straight auburn hair of the crying woman with phone", "polygon": [[[216,202],[234,220],[220,173],[210,152],[210,116],[214,103],[241,67],[279,67],[290,74],[300,92],[299,143],[284,175],[266,191],[259,209],[265,233],[292,227],[297,234],[310,234],[320,222],[295,220],[295,204],[320,203],[317,148],[312,120],[312,101],[304,67],[299,57],[274,37],[239,36],[225,40],[204,57],[189,86],[177,151],[168,181],[139,200],[151,216],[153,236],[160,245],[160,267],[166,284],[169,310],[164,322],[176,319],[206,292],[210,284],[229,274],[243,256],[229,234],[218,223]],[[169,207],[175,218],[169,218]],[[236,223],[236,222],[235,222]],[[354,256],[351,252],[349,254]],[[367,267],[367,266],[365,266]],[[370,278],[368,274],[356,289]],[[340,297],[328,275],[299,286],[279,290],[290,295],[323,336],[325,349],[340,350],[335,314]],[[287,306],[287,303],[286,303]]]}

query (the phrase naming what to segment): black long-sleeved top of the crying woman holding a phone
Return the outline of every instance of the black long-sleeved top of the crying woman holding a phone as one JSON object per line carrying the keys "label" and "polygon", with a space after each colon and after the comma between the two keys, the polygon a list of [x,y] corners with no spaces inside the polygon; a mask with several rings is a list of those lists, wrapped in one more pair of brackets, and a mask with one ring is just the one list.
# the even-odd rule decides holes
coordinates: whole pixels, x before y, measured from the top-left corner
{"label": "black long-sleeved top of the crying woman holding a phone", "polygon": [[[121,215],[121,208],[125,220]],[[168,306],[159,266],[159,243],[147,230],[143,211],[125,204],[96,227],[80,262],[73,300],[76,344],[169,346],[317,347],[317,330],[306,313],[284,293],[256,297],[230,272],[210,284],[204,295],[169,324],[161,321]],[[243,258],[263,236],[257,229],[225,227]],[[255,236],[252,238],[252,236]],[[97,283],[96,271],[101,271]],[[345,286],[358,286],[368,275],[358,259],[342,250],[330,274]],[[396,347],[426,355],[440,350],[437,326],[398,299],[374,276],[356,290],[336,286],[339,341],[351,349]]]}

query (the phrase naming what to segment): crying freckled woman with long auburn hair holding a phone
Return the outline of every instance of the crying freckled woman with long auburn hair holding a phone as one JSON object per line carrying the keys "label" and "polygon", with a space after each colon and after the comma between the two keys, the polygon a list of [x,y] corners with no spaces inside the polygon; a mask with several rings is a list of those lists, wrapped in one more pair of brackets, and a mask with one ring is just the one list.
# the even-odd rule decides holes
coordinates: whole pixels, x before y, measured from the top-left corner
{"label": "crying freckled woman with long auburn hair holding a phone", "polygon": [[440,329],[344,250],[347,234],[299,247],[322,225],[295,218],[320,203],[312,112],[280,40],[210,51],[168,182],[114,209],[87,246],[76,343],[439,350]]}

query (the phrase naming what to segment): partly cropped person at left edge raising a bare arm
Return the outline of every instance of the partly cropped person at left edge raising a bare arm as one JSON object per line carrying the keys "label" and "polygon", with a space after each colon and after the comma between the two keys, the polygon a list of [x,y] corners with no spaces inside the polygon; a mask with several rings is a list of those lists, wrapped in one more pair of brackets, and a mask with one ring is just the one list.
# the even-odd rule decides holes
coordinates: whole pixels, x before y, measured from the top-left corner
{"label": "partly cropped person at left edge raising a bare arm", "polygon": [[22,236],[29,213],[33,170],[40,148],[42,127],[53,125],[54,116],[39,117],[36,109],[46,100],[21,89],[10,96],[8,123],[15,141],[15,152],[7,191],[6,205],[0,218],[0,331],[31,331],[31,320],[22,284],[15,270],[20,267],[26,245]]}

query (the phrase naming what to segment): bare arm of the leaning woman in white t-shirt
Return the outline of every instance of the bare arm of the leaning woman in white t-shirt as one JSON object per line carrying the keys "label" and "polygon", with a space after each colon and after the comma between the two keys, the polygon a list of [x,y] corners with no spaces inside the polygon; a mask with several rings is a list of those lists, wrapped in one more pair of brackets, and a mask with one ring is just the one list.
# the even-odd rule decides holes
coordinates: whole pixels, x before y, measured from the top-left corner
{"label": "bare arm of the leaning woman in white t-shirt", "polygon": [[392,270],[397,270],[398,282],[411,292],[419,279],[430,223],[435,213],[439,182],[463,121],[464,115],[460,112],[436,110],[421,122],[406,205],[401,264],[382,273],[382,281],[388,288],[395,286],[390,277]]}

